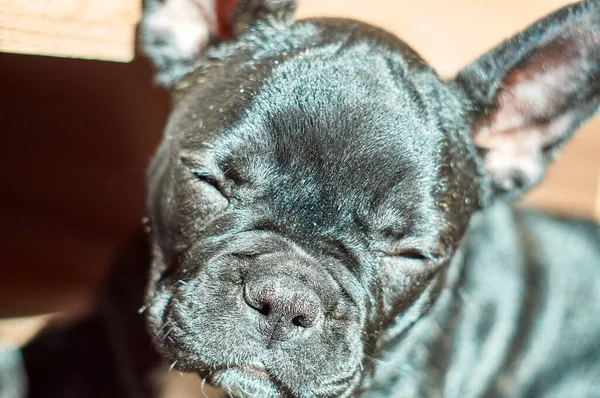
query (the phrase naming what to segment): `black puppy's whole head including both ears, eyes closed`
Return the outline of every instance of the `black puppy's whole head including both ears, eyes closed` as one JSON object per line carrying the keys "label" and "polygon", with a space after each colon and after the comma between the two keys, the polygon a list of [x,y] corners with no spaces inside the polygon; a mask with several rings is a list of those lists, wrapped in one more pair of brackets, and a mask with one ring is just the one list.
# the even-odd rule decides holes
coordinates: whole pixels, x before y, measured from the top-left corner
{"label": "black puppy's whole head including both ears, eyes closed", "polygon": [[231,18],[148,3],[173,94],[148,177],[150,329],[234,395],[351,394],[435,301],[471,215],[535,185],[600,102],[597,1],[447,82],[374,27],[294,23],[291,0]]}

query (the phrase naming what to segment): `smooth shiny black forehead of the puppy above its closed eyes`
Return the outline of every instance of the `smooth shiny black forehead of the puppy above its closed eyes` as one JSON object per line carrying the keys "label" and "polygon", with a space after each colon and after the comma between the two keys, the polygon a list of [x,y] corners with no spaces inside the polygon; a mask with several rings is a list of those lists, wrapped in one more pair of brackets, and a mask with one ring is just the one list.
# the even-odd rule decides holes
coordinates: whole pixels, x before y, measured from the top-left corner
{"label": "smooth shiny black forehead of the puppy above its closed eyes", "polygon": [[198,114],[209,116],[179,137],[181,146],[204,151],[255,195],[276,201],[285,188],[273,204],[282,213],[313,207],[339,218],[398,207],[389,201],[403,202],[404,212],[434,206],[442,134],[419,80],[429,77],[369,51],[321,49],[275,62],[268,74],[248,71],[229,101],[206,97]]}

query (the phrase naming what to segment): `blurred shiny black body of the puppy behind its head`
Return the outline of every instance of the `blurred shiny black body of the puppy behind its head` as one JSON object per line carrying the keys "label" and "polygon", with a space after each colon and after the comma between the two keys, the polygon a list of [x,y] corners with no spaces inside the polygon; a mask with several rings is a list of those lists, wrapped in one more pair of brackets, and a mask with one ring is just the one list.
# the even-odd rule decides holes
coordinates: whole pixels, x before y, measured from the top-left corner
{"label": "blurred shiny black body of the puppy behind its head", "polygon": [[600,396],[598,239],[592,223],[505,205],[481,214],[436,304],[377,361],[381,387],[365,396]]}

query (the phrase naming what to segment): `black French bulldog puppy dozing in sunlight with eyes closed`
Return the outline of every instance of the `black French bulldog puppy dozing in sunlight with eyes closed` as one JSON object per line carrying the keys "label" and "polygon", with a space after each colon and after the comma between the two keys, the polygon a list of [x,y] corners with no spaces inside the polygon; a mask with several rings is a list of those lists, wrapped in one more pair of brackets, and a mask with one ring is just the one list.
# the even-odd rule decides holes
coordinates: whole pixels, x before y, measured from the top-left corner
{"label": "black French bulldog puppy dozing in sunlight with eyes closed", "polygon": [[[242,1],[200,53],[178,30],[198,2],[153,22],[173,3],[143,24],[174,98],[151,259],[122,258],[108,316],[26,349],[32,396],[74,375],[73,396],[151,394],[146,261],[161,356],[233,396],[600,396],[600,228],[506,204],[600,105],[600,1],[451,81],[372,26],[294,23],[291,0]],[[49,370],[48,339],[93,365]]]}

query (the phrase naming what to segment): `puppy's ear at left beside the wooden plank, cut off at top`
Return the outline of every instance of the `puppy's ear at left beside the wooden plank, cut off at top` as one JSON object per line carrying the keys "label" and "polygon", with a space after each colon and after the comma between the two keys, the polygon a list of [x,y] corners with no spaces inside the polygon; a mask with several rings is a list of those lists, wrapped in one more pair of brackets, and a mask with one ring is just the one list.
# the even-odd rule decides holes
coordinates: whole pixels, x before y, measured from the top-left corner
{"label": "puppy's ear at left beside the wooden plank, cut off at top", "polygon": [[144,0],[142,48],[170,87],[198,66],[204,50],[263,25],[289,25],[295,0]]}

